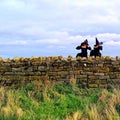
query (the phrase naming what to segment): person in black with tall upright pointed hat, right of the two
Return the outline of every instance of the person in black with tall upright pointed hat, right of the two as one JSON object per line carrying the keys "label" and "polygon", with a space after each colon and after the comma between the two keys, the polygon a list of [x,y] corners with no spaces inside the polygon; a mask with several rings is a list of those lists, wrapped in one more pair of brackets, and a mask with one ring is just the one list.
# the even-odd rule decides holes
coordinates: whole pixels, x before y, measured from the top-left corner
{"label": "person in black with tall upright pointed hat, right of the two", "polygon": [[96,40],[96,44],[94,45],[94,49],[91,50],[90,56],[101,57],[100,50],[103,49],[103,47],[102,47],[103,42],[99,42],[97,38],[95,38],[95,40]]}

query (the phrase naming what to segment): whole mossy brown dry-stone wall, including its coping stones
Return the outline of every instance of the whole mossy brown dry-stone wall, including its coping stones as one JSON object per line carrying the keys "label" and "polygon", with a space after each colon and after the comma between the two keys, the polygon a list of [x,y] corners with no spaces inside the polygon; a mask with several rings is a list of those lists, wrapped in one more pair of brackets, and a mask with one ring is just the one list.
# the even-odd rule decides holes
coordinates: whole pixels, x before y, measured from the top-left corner
{"label": "whole mossy brown dry-stone wall, including its coping stones", "polygon": [[80,87],[120,85],[120,58],[31,57],[0,58],[0,86],[39,81],[71,83]]}

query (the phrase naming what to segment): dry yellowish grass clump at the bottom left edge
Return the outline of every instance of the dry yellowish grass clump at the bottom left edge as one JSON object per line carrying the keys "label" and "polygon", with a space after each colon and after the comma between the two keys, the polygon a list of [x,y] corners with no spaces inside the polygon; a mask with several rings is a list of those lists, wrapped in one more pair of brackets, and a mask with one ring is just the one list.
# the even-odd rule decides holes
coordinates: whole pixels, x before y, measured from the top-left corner
{"label": "dry yellowish grass clump at the bottom left edge", "polygon": [[16,115],[20,118],[24,112],[17,106],[17,102],[13,91],[5,90],[4,87],[0,88],[0,114],[3,114],[5,118],[10,115]]}

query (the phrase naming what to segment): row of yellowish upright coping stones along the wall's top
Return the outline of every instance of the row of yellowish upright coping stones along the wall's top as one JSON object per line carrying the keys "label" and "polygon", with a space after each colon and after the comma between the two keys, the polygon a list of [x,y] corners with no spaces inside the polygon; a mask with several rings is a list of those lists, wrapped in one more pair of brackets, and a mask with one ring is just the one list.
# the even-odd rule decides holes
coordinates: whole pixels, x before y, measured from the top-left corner
{"label": "row of yellowish upright coping stones along the wall's top", "polygon": [[0,62],[23,62],[23,61],[34,61],[34,62],[40,62],[40,61],[120,61],[120,56],[116,56],[116,57],[110,57],[110,56],[102,56],[102,57],[72,57],[72,56],[68,56],[68,57],[63,57],[63,56],[32,56],[31,58],[27,58],[27,57],[14,57],[14,58],[2,58],[0,57]]}

